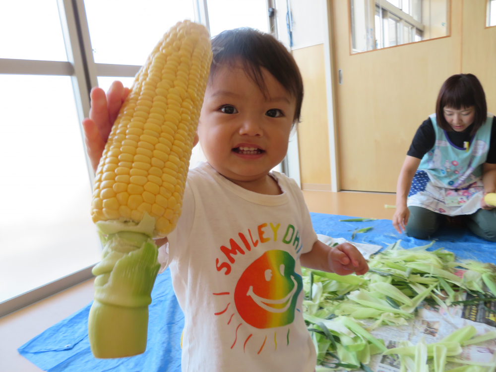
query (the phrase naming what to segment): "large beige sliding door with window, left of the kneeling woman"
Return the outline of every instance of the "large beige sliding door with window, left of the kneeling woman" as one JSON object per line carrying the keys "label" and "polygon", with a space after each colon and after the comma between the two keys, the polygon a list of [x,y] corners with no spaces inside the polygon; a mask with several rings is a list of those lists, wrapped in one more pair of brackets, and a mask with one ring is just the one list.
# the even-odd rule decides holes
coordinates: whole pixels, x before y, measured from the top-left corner
{"label": "large beige sliding door with window, left of the kneeling woman", "polygon": [[[415,131],[461,71],[461,0],[451,36],[350,55],[348,1],[333,1],[341,189],[394,192]],[[336,81],[338,80],[336,76]]]}

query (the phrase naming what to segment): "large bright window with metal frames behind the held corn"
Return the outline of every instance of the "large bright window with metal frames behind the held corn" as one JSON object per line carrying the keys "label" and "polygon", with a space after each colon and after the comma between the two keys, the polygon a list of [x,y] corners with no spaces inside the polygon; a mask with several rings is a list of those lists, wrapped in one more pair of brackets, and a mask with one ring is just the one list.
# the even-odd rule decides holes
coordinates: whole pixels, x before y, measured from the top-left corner
{"label": "large bright window with metal frames behind the held corn", "polygon": [[[178,20],[210,24],[212,35],[269,29],[265,0],[115,4],[0,1],[0,316],[91,277],[101,259],[80,126],[91,87],[108,90],[114,80],[130,87]],[[196,147],[191,165],[198,160],[204,156]]]}

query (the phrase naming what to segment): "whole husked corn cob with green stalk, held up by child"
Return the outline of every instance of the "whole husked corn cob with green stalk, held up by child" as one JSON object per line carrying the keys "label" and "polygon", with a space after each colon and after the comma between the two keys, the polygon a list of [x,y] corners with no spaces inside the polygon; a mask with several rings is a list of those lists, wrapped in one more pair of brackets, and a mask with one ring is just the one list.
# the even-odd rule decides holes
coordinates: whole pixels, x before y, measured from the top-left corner
{"label": "whole husked corn cob with green stalk, held up by child", "polygon": [[181,215],[196,125],[212,60],[205,27],[179,22],[138,71],[98,166],[91,214],[104,245],[93,268],[88,331],[97,358],[146,349],[160,265],[152,238]]}

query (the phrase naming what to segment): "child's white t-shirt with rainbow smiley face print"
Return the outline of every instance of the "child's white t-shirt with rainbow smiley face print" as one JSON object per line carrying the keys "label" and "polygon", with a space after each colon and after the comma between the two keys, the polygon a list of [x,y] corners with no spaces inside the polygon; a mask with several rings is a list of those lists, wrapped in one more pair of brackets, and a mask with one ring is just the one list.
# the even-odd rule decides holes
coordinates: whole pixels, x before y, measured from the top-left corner
{"label": "child's white t-shirt with rainbow smiley face print", "polygon": [[159,251],[185,313],[182,370],[311,372],[300,255],[317,240],[301,189],[248,191],[207,163],[189,170],[182,216]]}

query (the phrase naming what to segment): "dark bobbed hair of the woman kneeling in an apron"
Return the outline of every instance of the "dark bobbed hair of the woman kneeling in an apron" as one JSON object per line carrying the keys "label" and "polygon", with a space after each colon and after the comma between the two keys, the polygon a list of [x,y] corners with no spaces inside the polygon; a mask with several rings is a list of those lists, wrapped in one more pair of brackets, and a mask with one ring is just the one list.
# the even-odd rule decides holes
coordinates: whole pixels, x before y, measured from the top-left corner
{"label": "dark bobbed hair of the woman kneeling in an apron", "polygon": [[456,110],[460,110],[462,107],[474,107],[474,128],[471,134],[475,134],[481,125],[486,123],[488,116],[486,94],[479,79],[471,73],[460,73],[448,77],[437,96],[435,105],[437,123],[444,130],[452,130],[444,119],[445,106]]}

